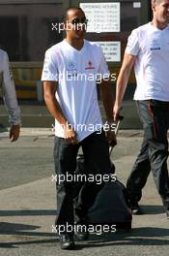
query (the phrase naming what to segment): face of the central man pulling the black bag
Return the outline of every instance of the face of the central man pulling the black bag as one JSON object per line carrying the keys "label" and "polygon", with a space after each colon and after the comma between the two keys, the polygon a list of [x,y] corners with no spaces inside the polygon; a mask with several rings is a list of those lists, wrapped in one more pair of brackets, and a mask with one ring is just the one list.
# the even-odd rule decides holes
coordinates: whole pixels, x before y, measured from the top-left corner
{"label": "face of the central man pulling the black bag", "polygon": [[83,12],[70,10],[67,16],[66,31],[71,39],[84,39],[87,19]]}

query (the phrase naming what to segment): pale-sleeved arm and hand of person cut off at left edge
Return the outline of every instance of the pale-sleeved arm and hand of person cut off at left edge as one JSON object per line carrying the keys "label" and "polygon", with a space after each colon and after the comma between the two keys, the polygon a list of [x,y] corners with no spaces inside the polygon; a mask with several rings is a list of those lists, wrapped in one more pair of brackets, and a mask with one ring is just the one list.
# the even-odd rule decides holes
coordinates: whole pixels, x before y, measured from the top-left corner
{"label": "pale-sleeved arm and hand of person cut off at left edge", "polygon": [[0,49],[0,92],[9,111],[9,122],[11,125],[9,137],[14,142],[18,139],[20,132],[20,109],[17,105],[9,57],[7,52],[2,49]]}

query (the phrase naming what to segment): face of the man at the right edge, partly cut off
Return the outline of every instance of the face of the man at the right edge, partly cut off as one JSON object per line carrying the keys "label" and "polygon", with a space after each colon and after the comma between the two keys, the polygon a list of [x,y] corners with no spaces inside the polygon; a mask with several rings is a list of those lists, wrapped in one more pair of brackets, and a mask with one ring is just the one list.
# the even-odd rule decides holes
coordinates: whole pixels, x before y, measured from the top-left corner
{"label": "face of the man at the right edge, partly cut off", "polygon": [[169,22],[169,0],[159,0],[153,5],[154,16],[162,23]]}

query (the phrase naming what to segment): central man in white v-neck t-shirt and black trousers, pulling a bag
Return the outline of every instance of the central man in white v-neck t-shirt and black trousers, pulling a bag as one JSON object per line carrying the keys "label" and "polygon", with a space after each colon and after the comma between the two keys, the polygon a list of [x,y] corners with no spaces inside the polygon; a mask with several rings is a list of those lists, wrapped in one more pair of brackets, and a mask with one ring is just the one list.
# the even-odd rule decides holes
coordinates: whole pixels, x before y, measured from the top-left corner
{"label": "central man in white v-neck t-shirt and black trousers, pulling a bag", "polygon": [[[71,249],[74,248],[73,181],[69,182],[67,175],[74,180],[78,148],[82,146],[85,168],[95,179],[97,174],[111,174],[108,142],[116,144],[116,139],[110,129],[106,140],[99,112],[97,80],[110,128],[113,98],[102,50],[84,40],[87,19],[82,9],[68,9],[66,20],[66,39],[46,50],[42,81],[46,106],[55,117],[55,171],[58,177],[65,178],[57,181],[56,230],[61,248]],[[103,182],[89,180],[83,185],[75,201],[76,225],[86,227],[88,209],[102,185]],[[81,240],[88,237],[87,229],[76,233]]]}

